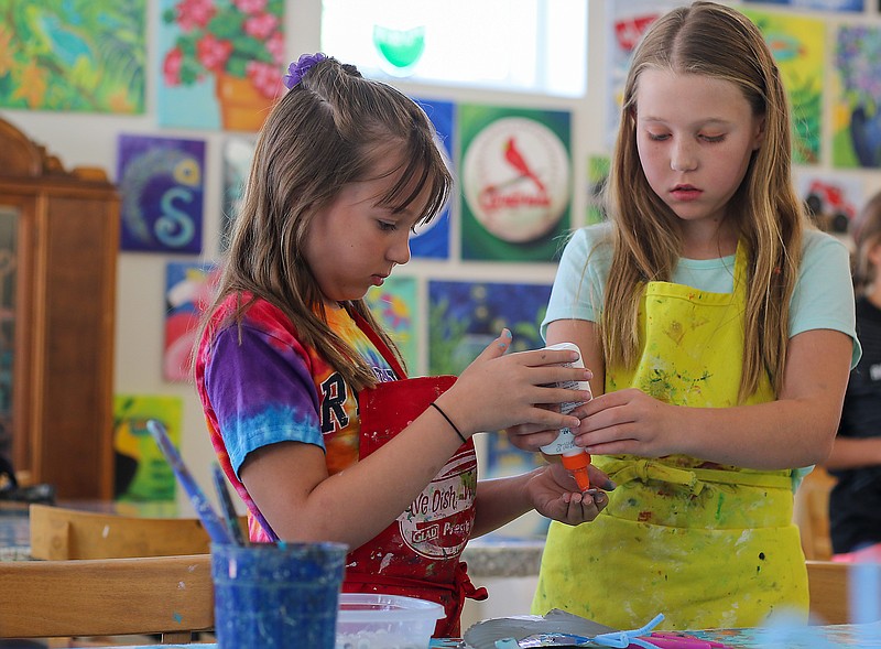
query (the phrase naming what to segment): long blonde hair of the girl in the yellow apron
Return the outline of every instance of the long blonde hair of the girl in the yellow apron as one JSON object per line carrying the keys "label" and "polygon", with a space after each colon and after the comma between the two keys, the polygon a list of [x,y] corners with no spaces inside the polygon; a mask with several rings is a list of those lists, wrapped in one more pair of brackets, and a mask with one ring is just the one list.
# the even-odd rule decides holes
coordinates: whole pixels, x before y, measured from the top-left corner
{"label": "long blonde hair of the girl in the yellow apron", "polygon": [[759,29],[738,11],[694,2],[659,18],[638,46],[627,77],[607,198],[613,257],[600,318],[608,365],[632,367],[639,354],[642,286],[670,281],[682,251],[681,223],[649,185],[637,150],[637,88],[645,69],[730,82],[764,139],[728,205],[749,256],[743,374],[739,399],[768,371],[780,392],[788,340],[790,298],[798,277],[806,220],[791,180],[790,109],[780,73]]}

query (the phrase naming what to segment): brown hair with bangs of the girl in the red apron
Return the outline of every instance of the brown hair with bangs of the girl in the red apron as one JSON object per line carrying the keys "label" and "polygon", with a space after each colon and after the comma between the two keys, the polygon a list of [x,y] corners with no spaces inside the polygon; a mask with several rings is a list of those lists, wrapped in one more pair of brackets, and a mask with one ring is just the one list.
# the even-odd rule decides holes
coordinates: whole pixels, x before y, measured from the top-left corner
{"label": "brown hair with bangs of the girl in the red apron", "polygon": [[[313,219],[348,184],[370,174],[400,150],[390,173],[399,181],[380,204],[403,209],[428,188],[420,223],[446,204],[453,177],[438,147],[437,133],[422,108],[388,84],[363,78],[357,68],[333,57],[319,61],[273,107],[260,131],[236,216],[217,296],[210,314],[229,295],[238,295],[235,318],[249,306],[243,294],[262,298],[294,324],[300,339],[315,347],[352,389],[376,383],[362,357],[328,326],[324,298],[303,255]],[[342,304],[362,316],[403,359],[371,315],[363,300]],[[208,331],[210,335],[213,332]],[[198,343],[197,343],[198,344]]]}

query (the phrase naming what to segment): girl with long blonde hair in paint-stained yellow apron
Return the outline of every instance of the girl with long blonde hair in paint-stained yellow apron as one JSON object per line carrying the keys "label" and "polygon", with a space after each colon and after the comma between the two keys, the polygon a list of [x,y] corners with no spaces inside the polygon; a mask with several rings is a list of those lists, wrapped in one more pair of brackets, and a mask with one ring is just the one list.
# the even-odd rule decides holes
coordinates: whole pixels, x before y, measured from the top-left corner
{"label": "girl with long blonde hair in paint-stained yellow apron", "polygon": [[[620,125],[610,223],[567,244],[543,325],[594,371],[576,443],[618,488],[594,523],[551,524],[533,613],[806,618],[795,467],[828,455],[859,357],[848,250],[807,226],[780,73],[738,11],[657,19]],[[509,435],[534,450],[553,433]]]}

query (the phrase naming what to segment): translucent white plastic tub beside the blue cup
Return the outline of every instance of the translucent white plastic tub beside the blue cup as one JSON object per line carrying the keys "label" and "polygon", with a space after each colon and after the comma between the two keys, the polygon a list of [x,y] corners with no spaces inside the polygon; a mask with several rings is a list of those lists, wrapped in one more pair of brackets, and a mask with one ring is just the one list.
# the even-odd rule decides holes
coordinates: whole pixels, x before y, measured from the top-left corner
{"label": "translucent white plastic tub beside the blue cup", "polygon": [[336,649],[427,649],[444,607],[434,602],[372,593],[342,593]]}

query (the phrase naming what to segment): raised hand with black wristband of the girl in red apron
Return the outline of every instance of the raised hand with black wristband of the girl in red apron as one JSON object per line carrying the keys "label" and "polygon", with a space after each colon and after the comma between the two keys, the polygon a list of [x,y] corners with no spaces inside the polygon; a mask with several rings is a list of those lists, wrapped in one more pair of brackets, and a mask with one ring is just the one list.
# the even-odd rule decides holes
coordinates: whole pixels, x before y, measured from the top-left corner
{"label": "raised hand with black wristband of the girl in red apron", "polygon": [[510,344],[511,334],[504,329],[438,397],[438,405],[466,435],[516,424],[533,431],[577,426],[580,420],[562,414],[559,404],[585,401],[587,396],[580,390],[548,387],[592,376],[586,369],[562,366],[575,360],[576,354],[565,349],[505,354]]}

